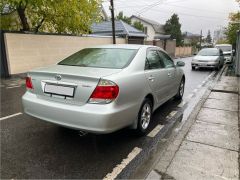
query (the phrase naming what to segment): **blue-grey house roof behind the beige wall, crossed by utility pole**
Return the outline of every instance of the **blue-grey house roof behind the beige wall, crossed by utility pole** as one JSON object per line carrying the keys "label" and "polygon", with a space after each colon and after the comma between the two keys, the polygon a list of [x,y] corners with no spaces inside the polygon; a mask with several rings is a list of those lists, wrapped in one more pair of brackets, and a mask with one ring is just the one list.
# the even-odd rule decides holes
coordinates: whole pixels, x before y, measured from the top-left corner
{"label": "blue-grey house roof behind the beige wall, crossed by utility pole", "polygon": [[[100,23],[94,23],[91,26],[92,34],[100,35],[112,35],[112,22],[103,21]],[[146,37],[142,31],[130,26],[129,24],[123,22],[122,20],[115,21],[115,33],[117,36],[129,36],[129,37]]]}

